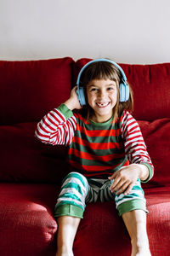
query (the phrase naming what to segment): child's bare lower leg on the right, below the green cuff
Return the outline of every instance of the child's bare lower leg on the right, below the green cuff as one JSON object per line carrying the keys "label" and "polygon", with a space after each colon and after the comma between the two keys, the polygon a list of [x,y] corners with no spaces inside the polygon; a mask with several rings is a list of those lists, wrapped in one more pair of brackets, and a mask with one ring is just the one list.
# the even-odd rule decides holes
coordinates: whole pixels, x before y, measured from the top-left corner
{"label": "child's bare lower leg on the right, below the green cuff", "polygon": [[146,231],[146,213],[134,210],[122,214],[123,221],[131,238],[131,256],[151,256]]}

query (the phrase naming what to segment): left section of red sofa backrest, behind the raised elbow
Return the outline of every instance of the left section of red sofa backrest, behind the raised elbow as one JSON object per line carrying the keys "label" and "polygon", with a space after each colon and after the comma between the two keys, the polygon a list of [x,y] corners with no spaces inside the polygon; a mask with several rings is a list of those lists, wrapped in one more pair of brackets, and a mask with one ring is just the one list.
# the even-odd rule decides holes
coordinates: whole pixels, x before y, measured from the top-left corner
{"label": "left section of red sofa backrest, behind the raised elbow", "polygon": [[38,142],[34,132],[70,96],[74,63],[0,61],[0,181],[59,183],[68,171],[66,149]]}

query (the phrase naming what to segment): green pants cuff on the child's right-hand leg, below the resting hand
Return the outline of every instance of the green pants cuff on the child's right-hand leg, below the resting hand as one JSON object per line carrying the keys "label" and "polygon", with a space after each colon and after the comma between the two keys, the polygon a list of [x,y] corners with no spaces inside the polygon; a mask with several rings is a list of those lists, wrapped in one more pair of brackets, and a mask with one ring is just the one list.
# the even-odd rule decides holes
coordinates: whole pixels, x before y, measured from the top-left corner
{"label": "green pants cuff on the child's right-hand leg, below the resting hand", "polygon": [[130,212],[133,210],[143,210],[144,212],[148,213],[145,202],[140,199],[125,201],[117,207],[117,210],[119,212],[119,216],[122,216],[122,214],[125,212]]}

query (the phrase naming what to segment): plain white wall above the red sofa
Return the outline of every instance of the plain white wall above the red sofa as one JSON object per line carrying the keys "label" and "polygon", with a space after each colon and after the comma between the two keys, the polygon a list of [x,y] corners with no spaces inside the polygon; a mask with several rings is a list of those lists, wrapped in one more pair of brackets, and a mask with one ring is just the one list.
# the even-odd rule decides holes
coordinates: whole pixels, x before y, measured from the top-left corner
{"label": "plain white wall above the red sofa", "polygon": [[0,60],[170,62],[169,0],[0,0]]}

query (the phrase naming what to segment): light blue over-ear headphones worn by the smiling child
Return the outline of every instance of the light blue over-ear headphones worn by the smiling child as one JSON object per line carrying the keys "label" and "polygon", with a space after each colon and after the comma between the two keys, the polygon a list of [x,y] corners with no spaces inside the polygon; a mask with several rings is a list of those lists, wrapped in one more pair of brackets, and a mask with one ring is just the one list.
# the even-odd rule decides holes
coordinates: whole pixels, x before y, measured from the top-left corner
{"label": "light blue over-ear headphones worn by the smiling child", "polygon": [[77,96],[78,96],[78,100],[81,104],[81,106],[85,106],[86,105],[86,100],[85,100],[85,96],[84,96],[84,89],[81,86],[81,76],[82,76],[82,72],[84,71],[84,69],[86,67],[88,67],[88,65],[94,63],[94,62],[99,62],[99,61],[105,61],[105,62],[109,62],[113,65],[115,65],[116,67],[118,67],[119,71],[122,73],[122,81],[119,84],[119,91],[120,91],[120,102],[127,102],[128,98],[129,98],[129,86],[127,84],[127,78],[125,73],[122,70],[122,67],[120,67],[116,62],[114,61],[110,61],[108,59],[96,59],[94,61],[89,61],[84,67],[82,67],[80,73],[78,74],[78,78],[77,78]]}

